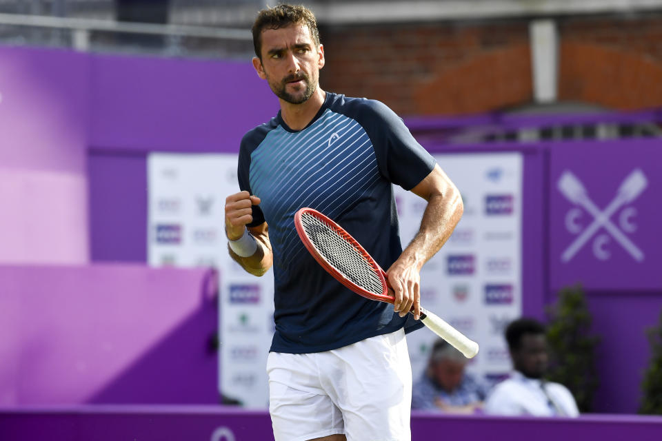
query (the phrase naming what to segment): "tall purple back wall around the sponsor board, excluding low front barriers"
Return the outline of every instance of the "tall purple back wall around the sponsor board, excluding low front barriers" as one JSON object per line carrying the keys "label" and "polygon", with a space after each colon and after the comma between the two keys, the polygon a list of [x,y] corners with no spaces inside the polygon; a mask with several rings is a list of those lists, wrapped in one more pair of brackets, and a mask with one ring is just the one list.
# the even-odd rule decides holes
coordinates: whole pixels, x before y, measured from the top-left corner
{"label": "tall purple back wall around the sponsor board, excluding low front barriers", "polygon": [[[8,250],[12,262],[84,262],[88,243],[94,261],[144,262],[146,154],[237,152],[243,133],[277,112],[277,100],[248,61],[0,48],[0,67],[0,79],[18,85],[0,91],[0,128],[10,133],[0,141],[0,203],[17,213],[3,216],[9,228],[0,229],[0,243],[10,246],[0,247],[0,262]],[[421,139],[425,134],[432,140],[429,121],[426,124]],[[558,287],[583,281],[594,331],[603,336],[596,410],[636,411],[650,353],[643,329],[655,324],[662,307],[662,279],[654,270],[662,259],[656,244],[660,239],[651,230],[660,214],[652,198],[662,190],[656,141],[634,147],[626,141],[611,146],[483,145],[452,150],[434,141],[423,144],[432,152],[524,153],[524,313],[543,318],[543,307],[554,300]],[[572,170],[599,209],[611,201],[632,167],[643,167],[649,187],[636,204],[627,206],[635,208],[636,219],[644,223],[625,234],[646,248],[644,266],[628,260],[614,238],[609,243],[612,266],[589,263],[588,248],[570,265],[559,265],[560,247],[573,239],[563,231],[563,218],[576,204],[561,198],[556,184],[570,164],[579,167]],[[86,167],[89,176],[82,173]],[[34,170],[39,174],[30,174]],[[582,219],[590,216],[584,212]]]}

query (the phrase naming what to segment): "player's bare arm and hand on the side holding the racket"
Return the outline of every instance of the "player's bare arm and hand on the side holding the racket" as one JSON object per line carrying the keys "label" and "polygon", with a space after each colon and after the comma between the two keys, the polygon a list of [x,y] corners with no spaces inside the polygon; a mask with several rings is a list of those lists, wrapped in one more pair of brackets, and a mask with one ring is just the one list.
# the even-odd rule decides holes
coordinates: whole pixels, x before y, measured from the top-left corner
{"label": "player's bare arm and hand on the side holding the racket", "polygon": [[388,282],[395,295],[394,311],[405,316],[414,306],[414,317],[421,314],[421,267],[448,240],[462,217],[460,192],[439,165],[425,176],[412,192],[428,201],[421,227],[398,260],[388,269]]}

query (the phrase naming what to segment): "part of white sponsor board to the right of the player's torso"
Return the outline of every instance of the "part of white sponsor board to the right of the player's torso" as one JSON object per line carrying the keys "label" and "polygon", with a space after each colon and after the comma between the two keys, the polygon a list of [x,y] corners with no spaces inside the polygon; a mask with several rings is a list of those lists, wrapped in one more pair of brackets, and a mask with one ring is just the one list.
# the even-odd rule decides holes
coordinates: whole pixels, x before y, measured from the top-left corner
{"label": "part of white sponsor board to the right of the player's torso", "polygon": [[[522,158],[517,153],[438,154],[459,188],[464,214],[421,270],[421,305],[479,343],[468,370],[498,377],[510,370],[503,327],[521,316]],[[419,229],[426,202],[396,187],[403,247]],[[408,334],[414,381],[437,338]]]}

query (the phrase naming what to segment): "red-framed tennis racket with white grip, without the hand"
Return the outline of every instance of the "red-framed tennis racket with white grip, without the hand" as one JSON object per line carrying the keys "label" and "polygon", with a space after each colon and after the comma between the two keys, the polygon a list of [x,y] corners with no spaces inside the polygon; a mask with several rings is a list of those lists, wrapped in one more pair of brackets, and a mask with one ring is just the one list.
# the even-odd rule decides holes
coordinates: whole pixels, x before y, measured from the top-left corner
{"label": "red-framed tennis racket with white grip, without the hand", "polygon": [[[294,215],[297,233],[317,262],[336,280],[370,300],[393,303],[386,273],[348,232],[312,208]],[[412,307],[410,313],[413,313]],[[421,307],[421,321],[467,358],[478,353],[478,344],[447,322]]]}

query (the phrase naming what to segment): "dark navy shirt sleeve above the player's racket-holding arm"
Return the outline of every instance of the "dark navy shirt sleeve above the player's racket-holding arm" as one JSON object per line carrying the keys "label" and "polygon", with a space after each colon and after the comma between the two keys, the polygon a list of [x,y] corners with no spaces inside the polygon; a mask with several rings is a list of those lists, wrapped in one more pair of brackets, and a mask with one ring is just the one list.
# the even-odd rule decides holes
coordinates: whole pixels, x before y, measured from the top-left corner
{"label": "dark navy shirt sleeve above the player's racket-holding arm", "polygon": [[357,121],[370,136],[379,172],[403,189],[412,189],[437,162],[388,106],[374,100],[364,100],[363,104]]}

